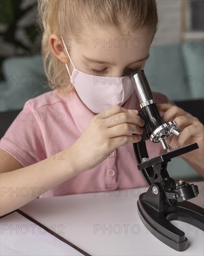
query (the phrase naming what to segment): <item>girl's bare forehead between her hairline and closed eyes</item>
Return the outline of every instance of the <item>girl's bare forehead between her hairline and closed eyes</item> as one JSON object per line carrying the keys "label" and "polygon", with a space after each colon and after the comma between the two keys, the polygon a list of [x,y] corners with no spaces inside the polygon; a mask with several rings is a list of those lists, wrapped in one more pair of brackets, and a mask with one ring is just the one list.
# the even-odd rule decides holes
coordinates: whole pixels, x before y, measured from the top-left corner
{"label": "girl's bare forehead between her hairline and closed eyes", "polygon": [[73,42],[73,51],[113,65],[125,60],[131,63],[147,56],[153,38],[147,29],[132,34],[118,34],[111,29],[86,29],[84,34],[80,44]]}

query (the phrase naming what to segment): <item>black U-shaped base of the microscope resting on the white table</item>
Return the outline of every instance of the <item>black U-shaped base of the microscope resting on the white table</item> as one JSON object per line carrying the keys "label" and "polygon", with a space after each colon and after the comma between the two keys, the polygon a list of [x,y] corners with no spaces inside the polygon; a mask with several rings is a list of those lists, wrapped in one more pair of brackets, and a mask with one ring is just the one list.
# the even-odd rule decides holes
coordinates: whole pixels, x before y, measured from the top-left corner
{"label": "black U-shaped base of the microscope resting on the white table", "polygon": [[[148,193],[151,193],[151,190],[141,194],[137,202],[138,213],[145,227],[152,235],[172,249],[177,251],[186,250],[188,239],[185,237],[185,233],[170,221],[187,222],[198,229],[204,230],[204,209],[186,201],[163,206],[162,193],[158,193],[158,195],[151,194],[151,198]],[[151,202],[153,203],[151,204]]]}

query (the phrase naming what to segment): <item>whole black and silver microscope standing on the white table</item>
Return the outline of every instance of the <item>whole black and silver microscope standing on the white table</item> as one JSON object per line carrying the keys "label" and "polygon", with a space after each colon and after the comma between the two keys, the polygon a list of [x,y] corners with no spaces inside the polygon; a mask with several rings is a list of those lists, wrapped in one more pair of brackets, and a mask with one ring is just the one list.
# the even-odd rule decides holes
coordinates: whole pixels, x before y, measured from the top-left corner
{"label": "whole black and silver microscope standing on the white table", "polygon": [[[160,241],[177,251],[184,251],[188,239],[170,221],[187,222],[204,230],[204,209],[186,201],[199,194],[197,185],[182,179],[176,184],[167,172],[167,164],[171,158],[195,150],[198,145],[194,143],[170,149],[166,139],[173,134],[180,135],[177,123],[165,121],[160,116],[144,70],[138,69],[132,73],[131,79],[140,102],[139,116],[145,121],[142,140],[133,143],[133,148],[138,169],[149,185],[147,192],[139,196],[138,213],[145,227]],[[145,145],[149,139],[154,143],[161,142],[166,153],[149,158]]]}

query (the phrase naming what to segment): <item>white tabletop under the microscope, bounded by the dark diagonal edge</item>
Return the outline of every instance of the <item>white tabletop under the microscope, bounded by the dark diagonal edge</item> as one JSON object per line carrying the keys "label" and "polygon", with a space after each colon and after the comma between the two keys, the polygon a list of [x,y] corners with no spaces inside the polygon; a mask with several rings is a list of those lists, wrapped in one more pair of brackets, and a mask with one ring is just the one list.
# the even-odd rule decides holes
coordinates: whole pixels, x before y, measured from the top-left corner
{"label": "white tabletop under the microscope, bounded by the dark diagonal edge", "polygon": [[[204,182],[189,200],[204,208]],[[160,242],[138,216],[138,196],[148,188],[37,198],[20,210],[90,255],[204,255],[204,232],[185,222],[171,221],[185,232],[188,246],[178,252]]]}

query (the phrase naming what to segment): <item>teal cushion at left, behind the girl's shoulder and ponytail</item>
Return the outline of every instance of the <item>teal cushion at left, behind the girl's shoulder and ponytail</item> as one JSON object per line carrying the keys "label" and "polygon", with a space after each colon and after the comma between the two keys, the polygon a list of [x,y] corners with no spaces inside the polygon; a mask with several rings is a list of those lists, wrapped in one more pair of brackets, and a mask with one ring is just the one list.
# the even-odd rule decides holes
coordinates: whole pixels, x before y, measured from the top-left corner
{"label": "teal cushion at left, behind the girl's shoulder and ponytail", "polygon": [[39,54],[6,59],[2,69],[6,81],[0,84],[0,112],[22,109],[27,100],[50,91]]}

